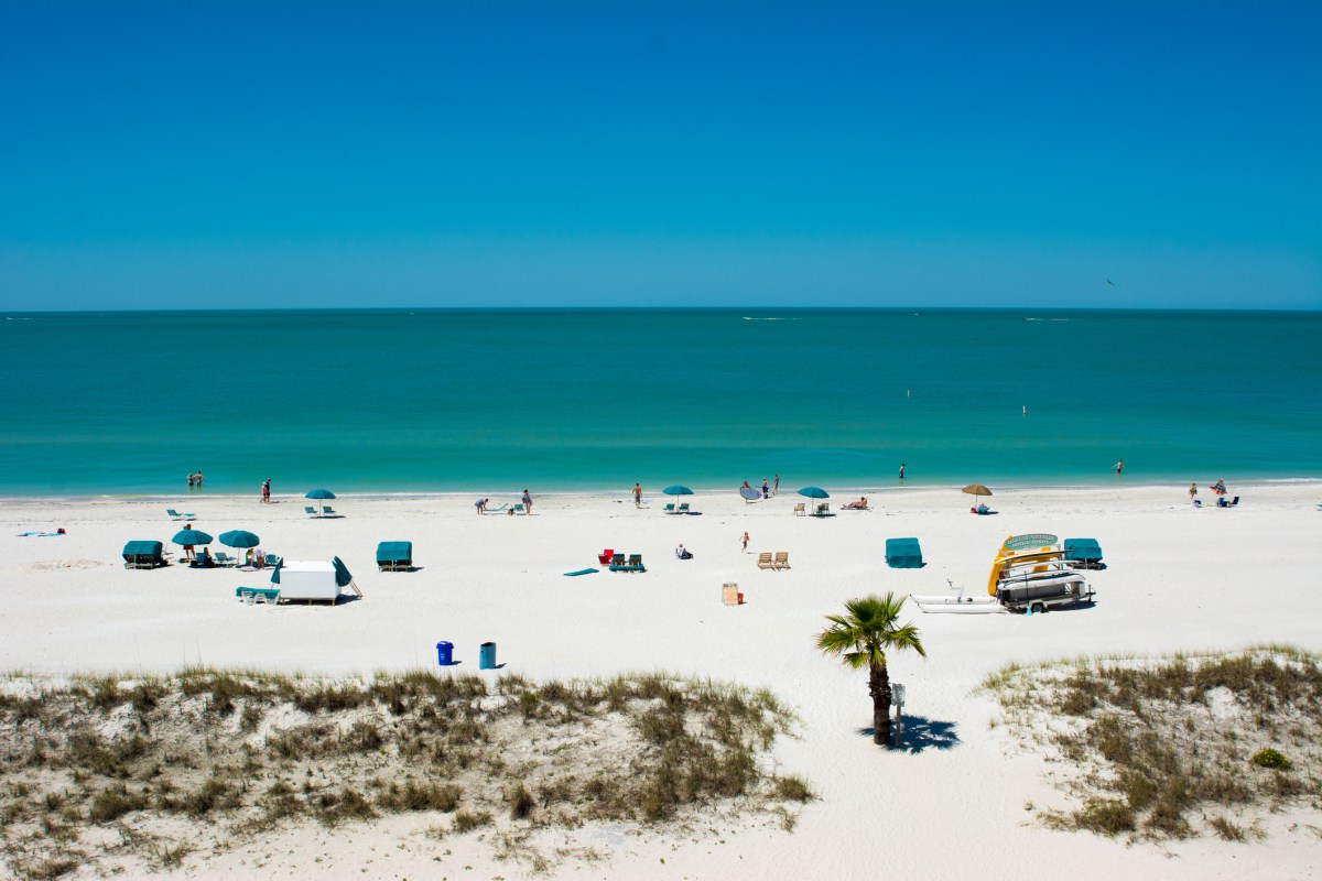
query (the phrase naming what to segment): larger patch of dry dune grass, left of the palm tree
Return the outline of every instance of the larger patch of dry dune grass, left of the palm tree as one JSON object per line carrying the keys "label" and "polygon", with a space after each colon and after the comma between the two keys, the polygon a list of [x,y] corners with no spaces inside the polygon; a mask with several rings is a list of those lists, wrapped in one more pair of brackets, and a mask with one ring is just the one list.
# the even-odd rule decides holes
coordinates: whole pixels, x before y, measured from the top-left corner
{"label": "larger patch of dry dune grass, left of the palm tree", "polygon": [[812,790],[765,753],[793,722],[769,692],[664,674],[9,675],[0,835],[9,870],[38,878],[107,857],[175,868],[275,824],[427,814],[434,837],[492,833],[545,866],[527,839],[547,827],[718,810],[792,828]]}

